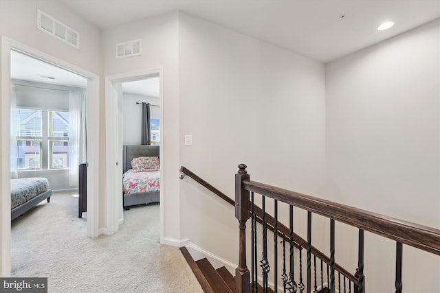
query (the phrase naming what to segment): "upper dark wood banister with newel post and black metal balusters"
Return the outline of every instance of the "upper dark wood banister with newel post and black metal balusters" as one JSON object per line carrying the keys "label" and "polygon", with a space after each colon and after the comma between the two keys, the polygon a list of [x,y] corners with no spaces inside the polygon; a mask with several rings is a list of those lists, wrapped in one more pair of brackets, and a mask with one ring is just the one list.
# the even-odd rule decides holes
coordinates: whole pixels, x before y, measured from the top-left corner
{"label": "upper dark wood banister with newel post and black metal balusters", "polygon": [[[269,222],[267,215],[265,216],[265,200],[272,198],[274,200],[275,217],[274,217],[274,263],[270,263],[267,259],[267,234],[263,228],[263,235],[260,241],[263,242],[261,259],[258,259],[256,253],[256,228],[255,218],[256,208],[254,206],[254,193],[260,194],[262,197],[262,215],[263,227],[267,226]],[[250,175],[246,171],[246,165],[239,165],[239,171],[235,175],[235,215],[239,220],[239,266],[236,268],[236,290],[237,292],[257,292],[256,284],[259,282],[259,274],[257,274],[257,264],[261,266],[261,283],[263,284],[263,292],[269,292],[268,279],[271,267],[274,268],[274,288],[277,290],[278,279],[283,282],[284,292],[322,292],[324,286],[325,268],[320,263],[320,273],[316,272],[316,257],[314,257],[314,266],[311,264],[311,256],[316,253],[311,253],[313,246],[311,246],[311,221],[312,215],[318,214],[329,219],[330,222],[330,258],[327,262],[327,284],[329,285],[329,292],[351,292],[351,281],[353,281],[353,292],[365,292],[364,279],[364,231],[375,233],[388,239],[393,239],[396,242],[396,272],[395,272],[395,292],[402,291],[402,244],[413,246],[415,248],[425,250],[434,255],[440,255],[440,230],[419,224],[406,222],[404,220],[397,220],[370,211],[349,207],[344,204],[338,204],[329,200],[322,200],[304,194],[299,194],[294,191],[281,189],[271,185],[265,185],[250,180]],[[278,203],[289,204],[289,232],[281,232],[277,220]],[[304,240],[299,240],[293,231],[294,224],[294,207],[295,209],[303,209],[307,211],[307,244]],[[252,242],[252,269],[249,271],[246,265],[246,237],[245,224],[247,220],[251,219],[251,242]],[[335,222],[342,222],[350,226],[354,226],[359,230],[359,250],[358,250],[358,269],[357,278],[353,280],[349,278],[347,288],[347,279],[341,279],[341,272],[337,270],[335,263]],[[278,276],[276,270],[277,251],[278,251],[278,236],[283,234],[283,274]],[[287,236],[287,238],[285,237]],[[299,243],[300,242],[300,243]],[[285,248],[287,243],[288,247]],[[295,272],[294,266],[294,248],[300,246],[300,263],[302,262],[303,248],[307,255],[307,272],[303,278],[303,266],[299,266],[300,272]],[[285,257],[284,257],[285,255]],[[285,259],[288,259],[287,263]],[[286,268],[287,267],[287,268]],[[313,269],[313,272],[312,272]],[[311,275],[314,275],[312,278]],[[317,279],[320,274],[320,285],[318,286]],[[305,281],[305,283],[303,283]],[[312,281],[314,283],[312,284]],[[338,286],[338,288],[336,288]]]}

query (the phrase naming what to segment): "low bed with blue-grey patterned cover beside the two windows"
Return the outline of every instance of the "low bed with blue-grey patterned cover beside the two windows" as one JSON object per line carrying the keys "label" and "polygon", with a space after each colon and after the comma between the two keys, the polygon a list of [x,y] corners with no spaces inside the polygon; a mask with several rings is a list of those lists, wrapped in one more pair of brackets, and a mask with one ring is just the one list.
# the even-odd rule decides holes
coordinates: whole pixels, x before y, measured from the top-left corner
{"label": "low bed with blue-grey patterned cover beside the two windows", "polygon": [[52,189],[47,178],[11,179],[11,220],[23,215],[37,204],[47,199],[50,202]]}

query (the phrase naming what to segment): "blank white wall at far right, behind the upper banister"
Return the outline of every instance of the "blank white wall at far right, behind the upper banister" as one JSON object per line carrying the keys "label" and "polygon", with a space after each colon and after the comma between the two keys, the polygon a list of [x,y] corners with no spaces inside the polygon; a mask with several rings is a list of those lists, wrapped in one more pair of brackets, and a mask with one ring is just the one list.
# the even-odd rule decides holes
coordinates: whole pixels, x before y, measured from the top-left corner
{"label": "blank white wall at far right, behind the upper banister", "polygon": [[[439,20],[329,63],[332,199],[440,228],[439,99]],[[357,244],[350,242],[336,250],[344,251],[340,257],[347,263],[357,253]],[[369,292],[393,291],[393,255],[393,242],[367,233]],[[405,247],[406,292],[438,292],[438,272],[439,257]]]}

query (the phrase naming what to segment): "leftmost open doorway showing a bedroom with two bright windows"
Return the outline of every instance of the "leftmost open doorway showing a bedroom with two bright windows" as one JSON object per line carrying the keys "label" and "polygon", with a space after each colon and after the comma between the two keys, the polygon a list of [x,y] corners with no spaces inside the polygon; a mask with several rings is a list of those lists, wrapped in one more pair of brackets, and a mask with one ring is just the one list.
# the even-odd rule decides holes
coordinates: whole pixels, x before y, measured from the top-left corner
{"label": "leftmost open doorway showing a bedroom with two bright windows", "polygon": [[76,218],[88,80],[17,49],[10,56],[11,274],[19,275],[41,262],[54,223],[66,229]]}

